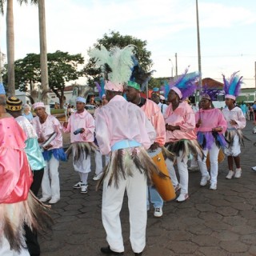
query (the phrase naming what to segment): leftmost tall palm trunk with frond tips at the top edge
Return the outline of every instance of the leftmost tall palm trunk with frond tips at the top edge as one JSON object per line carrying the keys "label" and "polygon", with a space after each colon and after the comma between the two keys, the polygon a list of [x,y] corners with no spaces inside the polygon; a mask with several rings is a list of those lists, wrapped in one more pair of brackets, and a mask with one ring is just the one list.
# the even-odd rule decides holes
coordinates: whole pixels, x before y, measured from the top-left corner
{"label": "leftmost tall palm trunk with frond tips at the top edge", "polygon": [[[3,14],[4,3],[6,6],[6,48],[7,48],[7,63],[8,63],[8,94],[15,95],[15,74],[14,74],[14,1],[0,0],[0,11]],[[18,0],[22,5],[28,0]],[[38,0],[30,0],[32,4],[37,4]]]}

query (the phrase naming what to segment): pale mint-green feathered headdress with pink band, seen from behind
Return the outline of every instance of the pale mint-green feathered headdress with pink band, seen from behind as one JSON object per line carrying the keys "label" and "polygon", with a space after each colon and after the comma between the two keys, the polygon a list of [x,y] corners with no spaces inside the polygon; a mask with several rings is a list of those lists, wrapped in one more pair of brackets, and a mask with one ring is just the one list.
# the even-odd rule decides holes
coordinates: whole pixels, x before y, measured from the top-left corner
{"label": "pale mint-green feathered headdress with pink band, seen from behind", "polygon": [[94,48],[88,52],[90,58],[94,58],[95,64],[101,67],[105,74],[105,90],[122,91],[124,83],[130,80],[134,46],[126,46],[122,49],[115,47],[113,50]]}

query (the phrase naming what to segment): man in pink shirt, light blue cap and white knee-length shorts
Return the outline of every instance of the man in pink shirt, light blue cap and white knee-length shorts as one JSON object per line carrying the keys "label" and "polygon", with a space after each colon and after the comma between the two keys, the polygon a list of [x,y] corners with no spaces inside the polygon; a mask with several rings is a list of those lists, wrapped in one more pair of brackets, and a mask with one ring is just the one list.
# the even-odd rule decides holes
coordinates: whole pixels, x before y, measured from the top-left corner
{"label": "man in pink shirt, light blue cap and white knee-length shorts", "polygon": [[82,194],[88,191],[87,179],[90,173],[90,142],[94,142],[94,118],[85,110],[86,99],[78,97],[76,99],[77,111],[72,114],[68,122],[63,123],[65,133],[70,132],[70,148],[72,150],[74,170],[78,171],[80,181],[73,187],[81,189]]}

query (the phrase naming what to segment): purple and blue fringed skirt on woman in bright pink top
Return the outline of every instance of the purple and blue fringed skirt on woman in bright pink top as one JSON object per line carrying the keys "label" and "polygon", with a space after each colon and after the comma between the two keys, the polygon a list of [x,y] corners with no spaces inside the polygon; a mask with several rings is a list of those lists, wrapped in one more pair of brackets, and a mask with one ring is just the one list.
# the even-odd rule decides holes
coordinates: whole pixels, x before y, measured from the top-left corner
{"label": "purple and blue fringed skirt on woman in bright pink top", "polygon": [[225,138],[218,132],[202,132],[198,131],[197,134],[198,143],[202,147],[202,150],[210,150],[212,145],[215,143],[218,148],[226,146]]}

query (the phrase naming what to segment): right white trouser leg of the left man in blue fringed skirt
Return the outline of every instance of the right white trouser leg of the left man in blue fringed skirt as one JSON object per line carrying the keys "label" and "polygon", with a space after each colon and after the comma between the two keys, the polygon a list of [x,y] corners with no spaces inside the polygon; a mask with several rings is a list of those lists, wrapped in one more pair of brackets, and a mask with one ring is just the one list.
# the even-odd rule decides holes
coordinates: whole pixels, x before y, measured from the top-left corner
{"label": "right white trouser leg of the left man in blue fringed skirt", "polygon": [[58,178],[58,166],[59,161],[56,158],[54,158],[54,155],[52,155],[49,161],[51,198],[61,198]]}

